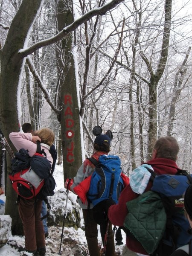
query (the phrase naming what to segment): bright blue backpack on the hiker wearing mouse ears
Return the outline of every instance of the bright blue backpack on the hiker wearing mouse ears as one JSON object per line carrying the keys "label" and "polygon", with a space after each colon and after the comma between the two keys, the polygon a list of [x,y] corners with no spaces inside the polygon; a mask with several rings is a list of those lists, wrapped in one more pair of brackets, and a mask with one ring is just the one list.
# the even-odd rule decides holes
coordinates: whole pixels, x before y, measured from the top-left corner
{"label": "bright blue backpack on the hiker wearing mouse ears", "polygon": [[87,198],[93,206],[108,198],[112,198],[117,203],[123,189],[119,157],[116,155],[101,155],[99,161],[93,157],[88,159],[96,168],[91,177]]}

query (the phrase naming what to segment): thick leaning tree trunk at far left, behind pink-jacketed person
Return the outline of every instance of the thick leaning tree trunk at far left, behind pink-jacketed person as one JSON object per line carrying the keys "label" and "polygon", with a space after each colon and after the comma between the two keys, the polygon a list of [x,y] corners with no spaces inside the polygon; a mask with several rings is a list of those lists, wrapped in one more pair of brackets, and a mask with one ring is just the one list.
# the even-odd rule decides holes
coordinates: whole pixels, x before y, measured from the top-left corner
{"label": "thick leaning tree trunk at far left, behind pink-jacketed person", "polygon": [[[24,47],[29,29],[41,7],[41,0],[23,0],[18,9],[6,38],[5,45],[0,52],[1,73],[0,73],[0,115],[2,118],[2,130],[6,139],[9,140],[11,131],[19,130],[17,113],[17,90],[20,84],[20,73],[23,70],[25,60],[18,53]],[[29,15],[30,13],[30,15]],[[19,92],[20,93],[20,92]],[[13,145],[12,145],[12,148]],[[8,174],[11,172],[11,161],[7,157]],[[23,234],[22,225],[18,215],[15,202],[17,196],[7,178],[6,209],[5,214],[12,218],[12,233]]]}

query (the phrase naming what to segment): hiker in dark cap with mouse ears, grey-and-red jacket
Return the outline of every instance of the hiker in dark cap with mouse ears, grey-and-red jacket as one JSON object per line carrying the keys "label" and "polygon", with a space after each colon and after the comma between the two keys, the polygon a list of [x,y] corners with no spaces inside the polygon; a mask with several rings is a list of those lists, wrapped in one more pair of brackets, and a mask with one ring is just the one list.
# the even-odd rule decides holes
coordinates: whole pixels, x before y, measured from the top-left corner
{"label": "hiker in dark cap with mouse ears, grey-and-red jacket", "polygon": [[[99,156],[101,155],[108,155],[108,152],[110,151],[110,145],[111,145],[111,139],[106,134],[100,134],[99,136],[96,136],[94,140],[94,151],[92,157],[95,158],[97,161],[99,160]],[[84,160],[84,163],[81,165],[79,170],[77,171],[76,177],[73,178],[73,180],[70,180],[69,185],[67,183],[67,180],[65,182],[65,188],[68,188],[74,192],[74,189],[76,186],[78,186],[82,181],[86,181],[87,177],[92,175],[92,173],[95,170],[95,165],[88,159]],[[76,193],[76,192],[75,192]],[[87,202],[84,202],[84,204],[81,202],[80,198],[78,197],[78,202],[80,207],[83,211],[83,217],[84,217],[84,228],[85,228],[85,236],[87,239],[87,245],[89,250],[90,256],[100,256],[99,252],[99,246],[98,246],[98,230],[97,230],[97,222],[93,217],[93,204],[87,204]],[[113,202],[114,204],[114,202]],[[101,218],[103,218],[101,216]],[[103,221],[102,224],[100,224],[100,232],[102,236],[102,242],[104,244],[105,240],[105,233],[106,233],[106,221]],[[115,256],[115,245],[114,245],[114,239],[113,239],[113,232],[112,232],[112,225],[111,222],[109,223],[109,229],[108,229],[108,238],[107,238],[107,246],[106,246],[106,256]]]}

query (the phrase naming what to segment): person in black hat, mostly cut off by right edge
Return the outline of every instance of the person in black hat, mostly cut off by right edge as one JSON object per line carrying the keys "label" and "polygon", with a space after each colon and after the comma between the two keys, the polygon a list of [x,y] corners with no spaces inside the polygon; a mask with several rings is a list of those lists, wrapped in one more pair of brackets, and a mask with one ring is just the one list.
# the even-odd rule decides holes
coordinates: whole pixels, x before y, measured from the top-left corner
{"label": "person in black hat, mostly cut off by right edge", "polygon": [[[192,185],[190,185],[184,195],[184,210],[186,218],[189,221],[190,227],[192,228]],[[189,246],[190,245],[190,246]],[[179,247],[172,253],[171,256],[191,256],[192,255],[192,240],[189,244]]]}

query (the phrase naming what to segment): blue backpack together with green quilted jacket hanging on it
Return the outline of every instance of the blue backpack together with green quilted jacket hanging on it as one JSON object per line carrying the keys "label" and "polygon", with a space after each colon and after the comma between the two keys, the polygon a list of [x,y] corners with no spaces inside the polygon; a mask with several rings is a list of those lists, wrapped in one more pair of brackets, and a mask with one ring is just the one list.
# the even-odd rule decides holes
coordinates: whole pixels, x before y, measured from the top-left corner
{"label": "blue backpack together with green quilted jacket hanging on it", "polygon": [[[192,184],[192,175],[180,169],[176,175],[156,175],[151,169],[145,168],[151,173],[153,185],[150,191],[127,202],[130,212],[125,218],[124,227],[127,228],[127,236],[137,237],[150,256],[170,256],[192,239],[189,221],[183,210],[183,195]],[[147,198],[148,194],[150,196]],[[156,206],[153,197],[156,197]],[[164,215],[166,218],[162,219]],[[159,228],[158,237],[154,226]],[[138,232],[138,227],[142,227],[142,231]]]}

